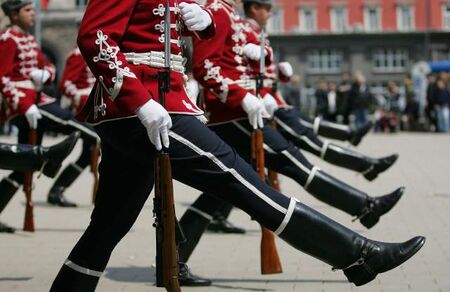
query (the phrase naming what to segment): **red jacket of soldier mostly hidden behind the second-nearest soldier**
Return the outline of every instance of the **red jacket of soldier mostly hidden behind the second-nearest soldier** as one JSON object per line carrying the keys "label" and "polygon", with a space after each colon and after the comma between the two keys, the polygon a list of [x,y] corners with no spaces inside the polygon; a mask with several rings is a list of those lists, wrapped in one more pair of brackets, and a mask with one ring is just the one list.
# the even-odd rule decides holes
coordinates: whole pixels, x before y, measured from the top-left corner
{"label": "red jacket of soldier mostly hidden behind the second-nearest soldier", "polygon": [[[245,26],[246,26],[246,33],[247,33],[247,38],[249,40],[249,42],[254,43],[255,45],[260,45],[261,44],[261,28],[258,25],[258,23],[251,19],[248,18],[245,20]],[[268,35],[265,35],[265,46],[266,48],[270,48],[270,52],[273,52],[272,47],[270,46],[270,42],[268,40]],[[277,101],[279,106],[282,107],[286,107],[288,106],[288,104],[286,103],[286,101],[283,99],[283,97],[279,94],[279,92],[277,92],[276,90],[274,90],[276,87],[273,86],[275,82],[288,82],[289,81],[289,77],[285,76],[280,70],[277,71],[277,67],[276,67],[276,63],[274,60],[274,55],[273,53],[269,54],[269,58],[270,60],[268,62],[266,62],[266,71],[264,73],[264,84],[265,87],[261,90],[261,96],[264,97],[264,95],[266,95],[267,93],[271,94],[275,100]],[[260,68],[259,68],[260,62],[258,61],[249,61],[249,74],[252,78],[255,78],[256,74],[259,73]]]}

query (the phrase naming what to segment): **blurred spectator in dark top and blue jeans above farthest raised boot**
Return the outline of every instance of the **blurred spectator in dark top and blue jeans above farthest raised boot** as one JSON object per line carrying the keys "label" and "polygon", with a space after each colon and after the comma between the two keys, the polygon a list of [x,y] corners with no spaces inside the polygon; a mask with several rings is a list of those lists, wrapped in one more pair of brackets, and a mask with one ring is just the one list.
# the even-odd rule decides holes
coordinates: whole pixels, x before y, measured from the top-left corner
{"label": "blurred spectator in dark top and blue jeans above farthest raised boot", "polygon": [[366,78],[360,71],[355,72],[355,82],[350,90],[349,99],[351,110],[355,115],[355,126],[360,128],[369,121],[369,105],[373,99]]}

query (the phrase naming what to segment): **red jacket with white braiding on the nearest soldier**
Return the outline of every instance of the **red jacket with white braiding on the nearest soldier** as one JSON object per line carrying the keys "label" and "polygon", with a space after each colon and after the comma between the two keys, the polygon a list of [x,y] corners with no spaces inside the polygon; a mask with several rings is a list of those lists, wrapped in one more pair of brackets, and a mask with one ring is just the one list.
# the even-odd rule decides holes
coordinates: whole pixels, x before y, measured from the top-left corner
{"label": "red jacket with white braiding on the nearest soldier", "polygon": [[[178,56],[181,56],[181,35],[189,33],[179,13],[180,2],[193,1],[170,0],[171,50]],[[160,0],[89,1],[78,34],[78,46],[98,82],[78,115],[80,120],[99,123],[131,117],[150,99],[158,100],[155,78],[158,69],[128,62],[125,54],[164,52],[165,3]],[[193,35],[208,38],[214,33],[213,23]],[[171,72],[171,91],[166,95],[165,108],[169,113],[203,114],[188,98],[184,83],[184,73]]]}

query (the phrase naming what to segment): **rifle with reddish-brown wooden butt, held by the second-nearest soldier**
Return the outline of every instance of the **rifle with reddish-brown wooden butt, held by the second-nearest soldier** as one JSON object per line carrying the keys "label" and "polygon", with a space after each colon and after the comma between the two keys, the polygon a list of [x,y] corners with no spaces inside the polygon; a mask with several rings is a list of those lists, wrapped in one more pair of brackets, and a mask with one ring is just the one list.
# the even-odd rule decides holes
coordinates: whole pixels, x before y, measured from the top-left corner
{"label": "rifle with reddish-brown wooden butt, held by the second-nearest soldier", "polygon": [[[260,70],[256,75],[256,96],[259,97],[261,89],[264,86],[265,72],[265,36],[264,30],[261,28],[261,61]],[[264,173],[264,148],[263,133],[261,129],[256,129],[252,133],[252,160],[254,168],[262,181],[266,181]],[[282,273],[281,261],[278,256],[275,244],[275,235],[272,231],[261,225],[261,274],[277,274]]]}

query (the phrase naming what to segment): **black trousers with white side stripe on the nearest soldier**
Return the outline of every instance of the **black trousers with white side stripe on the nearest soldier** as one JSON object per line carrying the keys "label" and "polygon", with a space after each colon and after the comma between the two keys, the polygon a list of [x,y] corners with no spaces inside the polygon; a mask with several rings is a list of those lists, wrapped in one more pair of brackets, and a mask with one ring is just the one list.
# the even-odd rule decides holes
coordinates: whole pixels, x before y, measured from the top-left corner
{"label": "black trousers with white side stripe on the nearest soldier", "polygon": [[[173,177],[214,193],[276,230],[290,199],[264,184],[231,147],[192,116],[172,115]],[[71,254],[70,267],[103,271],[112,250],[128,232],[153,187],[155,148],[137,118],[96,126],[102,141],[100,182],[91,222]]]}

